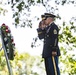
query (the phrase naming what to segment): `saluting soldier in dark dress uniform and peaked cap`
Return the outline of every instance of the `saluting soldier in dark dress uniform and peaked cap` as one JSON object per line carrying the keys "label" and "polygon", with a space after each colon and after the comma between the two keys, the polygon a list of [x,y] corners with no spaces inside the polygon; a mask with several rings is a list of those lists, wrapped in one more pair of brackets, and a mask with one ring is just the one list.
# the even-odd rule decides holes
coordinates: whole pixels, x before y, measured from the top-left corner
{"label": "saluting soldier in dark dress uniform and peaked cap", "polygon": [[39,39],[44,39],[42,57],[45,62],[45,69],[47,75],[60,75],[58,67],[58,59],[60,56],[60,50],[58,46],[58,26],[54,23],[53,14],[45,13],[41,16],[44,24],[37,29]]}

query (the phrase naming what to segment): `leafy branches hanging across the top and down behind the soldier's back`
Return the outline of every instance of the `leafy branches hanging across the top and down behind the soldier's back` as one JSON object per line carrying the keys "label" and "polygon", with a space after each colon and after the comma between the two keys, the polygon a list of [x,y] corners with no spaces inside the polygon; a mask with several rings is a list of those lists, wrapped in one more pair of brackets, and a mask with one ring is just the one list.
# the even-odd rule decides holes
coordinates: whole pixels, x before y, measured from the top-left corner
{"label": "leafy branches hanging across the top and down behind the soldier's back", "polygon": [[[31,6],[37,6],[37,5],[42,4],[46,8],[47,12],[49,11],[51,13],[56,13],[59,20],[61,20],[62,18],[60,17],[58,13],[57,6],[59,5],[64,6],[65,4],[73,4],[74,6],[76,6],[76,0],[73,0],[73,1],[72,0],[61,0],[61,1],[53,0],[53,2],[55,3],[55,7],[51,6],[49,2],[50,0],[37,0],[37,1],[35,0],[26,0],[26,1],[12,0],[12,1],[8,1],[7,4],[11,4],[11,8],[13,11],[14,25],[16,27],[17,26],[21,26],[21,27],[30,26],[31,28],[32,28],[32,20],[28,18],[31,16],[30,15]],[[24,15],[26,18],[25,17],[22,18],[22,16]],[[39,17],[36,16],[35,19],[39,20]],[[74,32],[76,32],[75,21],[76,21],[76,17],[73,16],[70,19],[69,24],[67,24],[66,22],[62,22],[62,26],[59,25],[60,30],[62,29],[61,33],[59,34],[59,42],[61,44],[61,53],[62,53],[62,56],[60,57],[60,62],[61,62],[60,64],[65,65],[64,69],[62,69],[62,66],[60,67],[61,67],[61,72],[63,72],[64,74],[66,74],[67,72],[68,75],[76,74],[76,65],[75,65],[76,55],[74,53],[71,54],[76,48],[76,36],[73,35]],[[32,47],[34,47],[35,42],[37,42],[37,39],[38,38],[34,38]],[[66,67],[68,67],[67,70],[66,70]]]}

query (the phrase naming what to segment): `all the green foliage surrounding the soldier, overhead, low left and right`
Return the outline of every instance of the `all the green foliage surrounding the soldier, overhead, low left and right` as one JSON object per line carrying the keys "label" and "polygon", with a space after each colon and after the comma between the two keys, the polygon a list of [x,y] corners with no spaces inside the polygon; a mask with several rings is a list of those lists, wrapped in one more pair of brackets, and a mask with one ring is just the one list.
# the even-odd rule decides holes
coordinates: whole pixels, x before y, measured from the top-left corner
{"label": "all the green foliage surrounding the soldier, overhead, low left and right", "polygon": [[[12,18],[14,19],[15,26],[30,26],[32,28],[32,20],[28,19],[30,17],[30,7],[42,4],[47,12],[53,10],[54,13],[58,8],[54,8],[50,6],[50,0],[8,0],[6,4],[11,4],[12,9]],[[76,0],[54,0],[57,5],[65,5],[65,4],[73,4],[76,6]],[[0,2],[1,4],[1,2]],[[0,7],[0,13],[4,12],[4,9]],[[28,12],[26,12],[26,11]],[[24,12],[25,11],[25,12]],[[22,19],[22,16],[26,16],[26,18]],[[38,17],[36,17],[38,18]],[[61,20],[60,15],[57,13],[57,19]],[[39,19],[37,19],[39,20]],[[59,25],[60,33],[59,33],[59,44],[61,49],[60,56],[60,71],[61,74],[66,75],[76,75],[76,17],[72,17],[69,21],[69,24],[63,22],[62,25]],[[31,47],[34,47],[35,42],[37,42],[38,38],[35,38],[34,44],[32,43]],[[28,53],[19,54],[16,52],[16,56],[14,61],[10,61],[14,75],[40,75],[38,72],[33,71],[34,66],[37,67],[41,72],[45,72],[43,59],[39,56],[31,56]],[[8,70],[6,66],[6,61],[4,57],[3,51],[0,52],[0,75],[8,75]]]}

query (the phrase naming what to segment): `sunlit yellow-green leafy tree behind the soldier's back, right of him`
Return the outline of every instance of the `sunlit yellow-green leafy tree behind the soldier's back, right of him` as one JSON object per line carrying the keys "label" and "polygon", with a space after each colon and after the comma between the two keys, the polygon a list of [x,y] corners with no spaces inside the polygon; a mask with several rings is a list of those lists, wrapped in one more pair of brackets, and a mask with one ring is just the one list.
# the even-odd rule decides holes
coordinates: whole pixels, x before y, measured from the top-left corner
{"label": "sunlit yellow-green leafy tree behind the soldier's back, right of him", "polygon": [[62,33],[59,35],[61,45],[61,53],[60,57],[61,64],[63,63],[65,68],[61,66],[61,72],[68,75],[75,75],[76,72],[76,36],[73,35],[71,31],[74,30],[75,27],[72,22],[69,25],[63,22]]}

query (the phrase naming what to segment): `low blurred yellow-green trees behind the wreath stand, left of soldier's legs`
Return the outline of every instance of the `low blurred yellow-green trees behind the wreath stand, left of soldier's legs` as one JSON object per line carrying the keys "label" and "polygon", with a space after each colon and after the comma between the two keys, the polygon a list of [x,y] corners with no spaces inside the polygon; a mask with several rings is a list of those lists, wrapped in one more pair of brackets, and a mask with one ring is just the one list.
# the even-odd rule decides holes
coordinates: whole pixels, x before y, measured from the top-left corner
{"label": "low blurred yellow-green trees behind the wreath stand, left of soldier's legs", "polygon": [[[19,54],[18,52],[15,55],[15,59],[10,60],[13,75],[40,75],[42,72],[44,75],[43,60],[40,56],[31,56],[28,53]],[[3,51],[0,52],[0,75],[8,75]]]}

